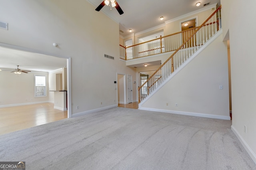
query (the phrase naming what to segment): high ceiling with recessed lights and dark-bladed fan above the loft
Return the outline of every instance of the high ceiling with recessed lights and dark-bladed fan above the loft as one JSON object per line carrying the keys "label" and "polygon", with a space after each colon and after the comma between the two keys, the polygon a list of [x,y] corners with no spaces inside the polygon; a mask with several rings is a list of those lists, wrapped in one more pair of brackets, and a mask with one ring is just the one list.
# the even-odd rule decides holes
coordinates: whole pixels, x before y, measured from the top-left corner
{"label": "high ceiling with recessed lights and dark-bladed fan above the loft", "polygon": [[[103,0],[87,0],[95,8],[102,3]],[[110,10],[109,6],[104,6],[100,12],[103,12],[114,21],[119,23],[119,32],[123,37],[130,34],[136,34],[144,30],[154,28],[164,22],[188,14],[195,10],[204,8],[204,4],[210,2],[209,5],[218,3],[220,0],[116,0],[124,11],[120,15],[116,8]],[[196,6],[197,2],[201,2],[200,6]],[[95,11],[97,12],[97,11]],[[164,20],[160,20],[163,16]],[[129,32],[132,29],[132,32]]]}

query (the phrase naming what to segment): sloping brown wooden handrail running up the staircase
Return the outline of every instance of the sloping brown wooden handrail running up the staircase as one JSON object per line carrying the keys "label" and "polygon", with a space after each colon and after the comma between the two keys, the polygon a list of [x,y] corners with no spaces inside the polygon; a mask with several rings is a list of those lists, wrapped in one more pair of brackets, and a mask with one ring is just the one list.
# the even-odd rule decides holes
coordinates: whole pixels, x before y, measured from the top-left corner
{"label": "sloping brown wooden handrail running up the staircase", "polygon": [[[212,18],[212,16],[214,16],[214,14],[216,13],[216,12],[218,12],[218,10],[220,10],[221,9],[221,5],[219,6],[219,8],[217,8],[213,13],[212,13],[212,15],[210,15],[205,21],[204,21],[204,23],[203,24],[201,24],[201,26],[199,26],[199,27],[197,27],[197,30],[184,42],[184,43],[182,43],[182,45],[180,45],[180,47],[178,48],[178,49],[176,49],[176,51],[174,51],[174,53],[145,81],[145,83],[143,83],[140,87],[138,87],[138,91],[140,91],[140,89],[146,84],[146,83],[148,83],[148,81],[160,70],[160,69],[162,69],[162,67],[170,60],[170,59],[172,59],[172,57],[200,30],[200,28],[202,28],[205,24],[206,24],[206,22],[208,21],[208,20],[210,20],[210,18]],[[195,28],[192,28],[192,29],[195,29]],[[191,30],[192,30],[191,29]],[[186,30],[186,31],[188,31],[188,30]],[[184,32],[184,31],[183,31]],[[181,32],[179,32],[179,33],[181,33]],[[178,33],[175,33],[175,34],[178,34]],[[174,35],[175,35],[174,34]],[[173,59],[172,59],[172,69],[173,69]],[[139,93],[140,94],[140,93]]]}

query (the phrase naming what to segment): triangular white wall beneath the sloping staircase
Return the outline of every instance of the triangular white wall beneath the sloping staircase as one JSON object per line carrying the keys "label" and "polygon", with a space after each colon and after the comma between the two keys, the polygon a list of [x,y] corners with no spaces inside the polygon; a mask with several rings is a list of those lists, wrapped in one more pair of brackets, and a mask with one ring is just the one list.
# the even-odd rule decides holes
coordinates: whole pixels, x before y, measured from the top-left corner
{"label": "triangular white wall beneath the sloping staircase", "polygon": [[[222,90],[219,85],[223,85]],[[227,44],[222,42],[222,36],[142,103],[141,107],[230,120]]]}

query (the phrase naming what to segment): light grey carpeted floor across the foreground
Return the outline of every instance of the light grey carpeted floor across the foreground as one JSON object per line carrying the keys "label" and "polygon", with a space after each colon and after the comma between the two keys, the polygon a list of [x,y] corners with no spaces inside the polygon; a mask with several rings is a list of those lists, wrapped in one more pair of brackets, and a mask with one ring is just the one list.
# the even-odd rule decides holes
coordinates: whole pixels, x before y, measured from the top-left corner
{"label": "light grey carpeted floor across the foreground", "polygon": [[256,170],[231,121],[115,107],[0,136],[26,170]]}

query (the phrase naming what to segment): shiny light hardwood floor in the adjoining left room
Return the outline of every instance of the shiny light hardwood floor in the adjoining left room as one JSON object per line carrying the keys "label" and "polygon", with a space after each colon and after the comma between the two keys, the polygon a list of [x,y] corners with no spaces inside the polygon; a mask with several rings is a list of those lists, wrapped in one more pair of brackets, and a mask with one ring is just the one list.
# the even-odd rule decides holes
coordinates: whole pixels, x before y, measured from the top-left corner
{"label": "shiny light hardwood floor in the adjoining left room", "polygon": [[0,108],[0,134],[66,119],[67,111],[54,109],[53,103]]}

